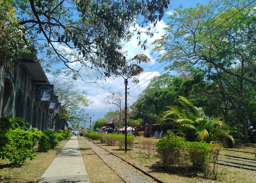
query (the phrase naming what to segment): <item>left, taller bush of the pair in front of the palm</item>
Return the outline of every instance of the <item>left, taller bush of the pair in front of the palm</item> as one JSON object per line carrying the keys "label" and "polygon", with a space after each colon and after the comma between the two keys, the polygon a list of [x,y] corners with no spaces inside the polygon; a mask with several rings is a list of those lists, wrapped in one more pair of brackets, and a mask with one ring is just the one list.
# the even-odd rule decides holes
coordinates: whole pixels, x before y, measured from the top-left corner
{"label": "left, taller bush of the pair in front of the palm", "polygon": [[182,151],[184,149],[184,139],[172,133],[167,134],[156,143],[156,151],[161,157],[165,166],[180,165],[182,160]]}

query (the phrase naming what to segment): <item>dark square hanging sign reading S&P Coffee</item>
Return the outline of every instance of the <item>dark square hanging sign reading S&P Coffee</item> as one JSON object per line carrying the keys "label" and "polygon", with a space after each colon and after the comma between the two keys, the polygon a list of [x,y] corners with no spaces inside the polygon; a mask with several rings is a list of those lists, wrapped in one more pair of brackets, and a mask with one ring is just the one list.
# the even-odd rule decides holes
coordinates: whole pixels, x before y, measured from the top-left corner
{"label": "dark square hanging sign reading S&P Coffee", "polygon": [[36,84],[36,100],[52,101],[53,84]]}

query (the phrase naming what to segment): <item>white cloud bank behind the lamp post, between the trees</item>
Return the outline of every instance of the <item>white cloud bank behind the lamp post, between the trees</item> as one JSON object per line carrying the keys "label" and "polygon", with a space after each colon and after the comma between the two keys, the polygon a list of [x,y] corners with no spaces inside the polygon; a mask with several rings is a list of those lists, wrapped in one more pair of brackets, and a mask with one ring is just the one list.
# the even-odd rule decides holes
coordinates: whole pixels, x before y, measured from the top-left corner
{"label": "white cloud bank behind the lamp post, between the trees", "polygon": [[[148,37],[145,34],[141,34],[141,40],[146,40],[146,39],[148,40],[147,42],[148,49],[146,51],[141,49],[140,46],[137,46],[138,40],[137,40],[137,34],[135,34],[132,37],[132,40],[125,44],[124,49],[127,51],[127,56],[126,56],[127,59],[130,59],[137,54],[145,54],[149,58],[151,58],[152,62],[143,64],[142,65],[143,67],[150,68],[154,63],[156,63],[155,58],[157,56],[151,54],[151,51],[154,48],[154,45],[152,45],[152,42],[155,39],[160,38],[162,35],[164,35],[165,31],[163,28],[165,26],[166,25],[163,20],[158,22],[156,27],[157,29],[156,31],[158,33],[155,33],[152,38]],[[145,28],[141,29],[141,31],[145,31]],[[73,68],[79,68],[81,65],[80,63],[73,63],[73,64],[70,64],[70,66],[72,66]],[[142,91],[148,86],[149,80],[160,73],[160,71],[156,70],[156,68],[152,67],[148,71],[143,72],[139,76],[140,82],[138,84],[134,84],[132,83],[132,79],[128,79],[128,88],[129,88],[128,92],[130,95],[130,99],[132,99],[133,101],[138,99],[137,98],[138,95],[142,93]],[[80,90],[85,90],[87,92],[88,99],[93,101],[93,103],[90,104],[90,106],[85,107],[85,109],[90,116],[92,116],[92,114],[95,113],[95,116],[92,117],[92,121],[94,121],[100,117],[103,117],[104,114],[106,114],[108,111],[111,111],[111,109],[114,108],[114,106],[105,105],[101,102],[101,100],[103,100],[110,93],[110,91],[119,91],[119,92],[122,91],[122,93],[124,94],[124,78],[121,76],[116,78],[107,78],[106,83],[104,83],[105,89],[103,89],[97,86],[97,84],[93,83],[95,81],[95,74],[93,70],[84,69],[84,74],[86,74],[89,77],[85,77],[85,82],[78,80],[76,82],[76,87],[79,88]]]}

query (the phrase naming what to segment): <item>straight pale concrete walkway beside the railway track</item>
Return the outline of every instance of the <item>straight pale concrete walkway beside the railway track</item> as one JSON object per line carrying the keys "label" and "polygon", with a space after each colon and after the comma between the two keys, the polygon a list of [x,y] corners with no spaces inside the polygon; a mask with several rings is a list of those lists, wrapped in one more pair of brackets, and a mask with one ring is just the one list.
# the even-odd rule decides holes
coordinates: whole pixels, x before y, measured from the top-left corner
{"label": "straight pale concrete walkway beside the railway track", "polygon": [[90,183],[76,136],[72,136],[38,183]]}

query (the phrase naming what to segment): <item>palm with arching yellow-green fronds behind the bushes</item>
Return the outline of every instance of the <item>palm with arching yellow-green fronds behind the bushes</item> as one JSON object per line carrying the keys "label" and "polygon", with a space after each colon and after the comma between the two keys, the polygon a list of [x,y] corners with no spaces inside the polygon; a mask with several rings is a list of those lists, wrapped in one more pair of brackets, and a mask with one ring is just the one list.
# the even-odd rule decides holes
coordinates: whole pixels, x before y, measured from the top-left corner
{"label": "palm with arching yellow-green fronds behind the bushes", "polygon": [[234,143],[233,137],[225,129],[222,117],[208,117],[202,107],[195,107],[190,100],[179,96],[181,106],[168,106],[160,121],[171,121],[190,142],[210,142],[210,137],[224,135]]}

